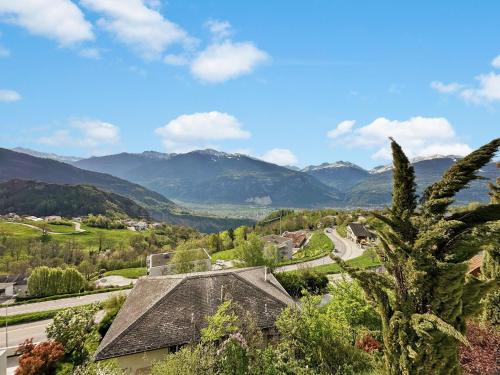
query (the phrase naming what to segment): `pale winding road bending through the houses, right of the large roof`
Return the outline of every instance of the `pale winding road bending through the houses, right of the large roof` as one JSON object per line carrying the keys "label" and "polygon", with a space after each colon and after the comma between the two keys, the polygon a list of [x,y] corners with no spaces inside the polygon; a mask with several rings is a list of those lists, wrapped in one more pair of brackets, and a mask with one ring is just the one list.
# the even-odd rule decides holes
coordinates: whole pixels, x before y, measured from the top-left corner
{"label": "pale winding road bending through the houses, right of the large roof", "polygon": [[[325,229],[324,233],[335,245],[335,250],[333,251],[333,254],[339,256],[343,260],[356,258],[361,254],[363,254],[364,251],[363,249],[358,247],[355,243],[345,238],[342,238],[335,229],[327,228]],[[277,267],[275,269],[275,272],[296,271],[302,268],[316,267],[316,266],[321,266],[323,264],[331,264],[331,263],[334,263],[334,261],[330,258],[329,255],[326,255],[324,257],[314,260],[309,260],[307,262],[289,264],[286,266]]]}

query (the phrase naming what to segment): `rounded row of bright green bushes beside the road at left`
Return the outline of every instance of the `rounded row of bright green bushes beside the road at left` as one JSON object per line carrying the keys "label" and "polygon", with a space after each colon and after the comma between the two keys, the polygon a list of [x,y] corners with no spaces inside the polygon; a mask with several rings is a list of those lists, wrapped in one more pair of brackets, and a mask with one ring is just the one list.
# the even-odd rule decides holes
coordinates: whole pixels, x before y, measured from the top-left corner
{"label": "rounded row of bright green bushes beside the road at left", "polygon": [[76,293],[86,285],[85,278],[77,269],[37,267],[28,278],[30,296],[44,297],[56,294]]}

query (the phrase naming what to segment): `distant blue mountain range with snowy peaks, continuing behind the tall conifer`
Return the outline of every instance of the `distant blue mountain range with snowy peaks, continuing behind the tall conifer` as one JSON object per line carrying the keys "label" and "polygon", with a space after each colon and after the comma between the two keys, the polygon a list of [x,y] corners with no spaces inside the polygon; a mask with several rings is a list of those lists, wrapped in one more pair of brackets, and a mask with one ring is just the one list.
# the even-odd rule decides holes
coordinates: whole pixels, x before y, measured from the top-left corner
{"label": "distant blue mountain range with snowy peaks, continuing behind the tall conifer", "polygon": [[[439,179],[457,159],[453,155],[413,159],[417,192]],[[178,202],[207,205],[380,207],[390,203],[392,191],[391,165],[366,170],[337,161],[298,169],[210,149],[184,154],[120,153],[80,159],[72,164],[80,170],[131,181]],[[493,180],[498,169],[495,163],[489,163],[480,174]],[[487,199],[484,180],[472,182],[457,195],[458,203]]]}

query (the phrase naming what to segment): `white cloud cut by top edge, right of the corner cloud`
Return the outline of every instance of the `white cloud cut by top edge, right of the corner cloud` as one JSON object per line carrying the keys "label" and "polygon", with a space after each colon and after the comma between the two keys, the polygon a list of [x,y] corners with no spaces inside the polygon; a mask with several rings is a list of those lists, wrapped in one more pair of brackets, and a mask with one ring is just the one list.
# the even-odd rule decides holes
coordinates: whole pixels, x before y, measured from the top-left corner
{"label": "white cloud cut by top edge, right of the corner cloud", "polygon": [[81,0],[83,6],[102,14],[97,24],[147,59],[158,58],[174,43],[189,45],[194,39],[164,18],[155,5],[143,0]]}

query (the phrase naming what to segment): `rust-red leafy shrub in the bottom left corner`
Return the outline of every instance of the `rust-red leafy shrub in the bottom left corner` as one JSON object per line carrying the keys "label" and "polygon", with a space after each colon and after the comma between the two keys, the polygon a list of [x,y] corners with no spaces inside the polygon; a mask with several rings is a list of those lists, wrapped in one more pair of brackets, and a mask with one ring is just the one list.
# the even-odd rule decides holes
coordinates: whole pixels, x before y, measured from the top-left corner
{"label": "rust-red leafy shrub in the bottom left corner", "polygon": [[35,345],[33,339],[29,339],[19,345],[16,354],[20,355],[16,375],[51,375],[57,361],[64,356],[64,347],[56,341]]}

